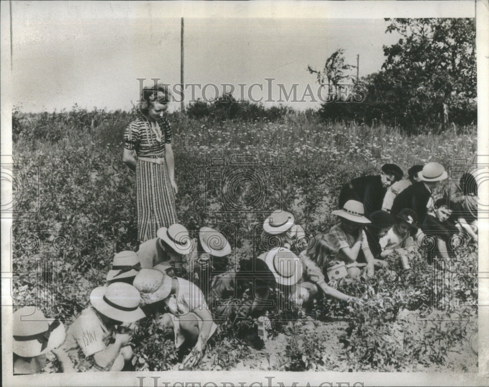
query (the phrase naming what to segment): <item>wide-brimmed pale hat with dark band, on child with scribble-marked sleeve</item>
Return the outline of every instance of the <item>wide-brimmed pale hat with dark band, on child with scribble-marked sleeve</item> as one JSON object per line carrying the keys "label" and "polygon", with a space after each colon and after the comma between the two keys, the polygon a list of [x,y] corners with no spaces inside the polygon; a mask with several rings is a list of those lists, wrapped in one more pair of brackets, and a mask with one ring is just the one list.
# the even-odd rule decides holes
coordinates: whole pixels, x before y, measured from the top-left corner
{"label": "wide-brimmed pale hat with dark band, on child with scribble-marked sleeve", "polygon": [[90,293],[90,303],[97,311],[112,320],[133,323],[146,317],[139,307],[139,291],[129,283],[113,282]]}

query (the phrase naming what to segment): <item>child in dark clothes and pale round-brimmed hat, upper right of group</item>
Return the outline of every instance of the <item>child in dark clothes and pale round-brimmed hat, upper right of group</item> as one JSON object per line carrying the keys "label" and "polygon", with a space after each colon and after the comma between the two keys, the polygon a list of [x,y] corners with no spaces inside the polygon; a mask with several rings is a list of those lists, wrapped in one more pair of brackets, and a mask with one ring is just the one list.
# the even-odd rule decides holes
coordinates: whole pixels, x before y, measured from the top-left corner
{"label": "child in dark clothes and pale round-brimmed hat, upper right of group", "polygon": [[428,210],[433,204],[432,192],[445,180],[448,174],[443,165],[439,163],[428,163],[418,173],[421,180],[407,187],[394,199],[391,214],[397,215],[403,208],[410,208],[416,212],[418,222],[423,223]]}

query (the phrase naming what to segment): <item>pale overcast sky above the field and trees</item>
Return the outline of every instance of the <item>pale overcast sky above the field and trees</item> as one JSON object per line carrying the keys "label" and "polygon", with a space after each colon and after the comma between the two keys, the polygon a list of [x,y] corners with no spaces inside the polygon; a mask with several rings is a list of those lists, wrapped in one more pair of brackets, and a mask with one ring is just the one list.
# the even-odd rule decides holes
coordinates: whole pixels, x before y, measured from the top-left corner
{"label": "pale overcast sky above the field and trees", "polygon": [[[138,99],[137,78],[179,83],[180,18],[161,18],[166,16],[165,5],[154,5],[13,1],[14,105],[24,111],[69,109],[75,103],[82,108],[129,109]],[[399,39],[385,33],[388,21],[381,18],[204,16],[184,19],[185,84],[216,84],[219,93],[224,83],[246,84],[246,98],[249,86],[258,83],[264,91],[255,87],[252,96],[265,100],[266,78],[275,79],[272,99],[279,98],[279,83],[286,90],[299,84],[300,98],[308,84],[315,84],[308,64],[322,69],[337,48],[345,49],[349,64],[356,64],[359,54],[360,76],[378,71],[384,61],[382,45]],[[214,90],[208,87],[206,96],[213,97]],[[172,109],[178,106],[173,103]]]}

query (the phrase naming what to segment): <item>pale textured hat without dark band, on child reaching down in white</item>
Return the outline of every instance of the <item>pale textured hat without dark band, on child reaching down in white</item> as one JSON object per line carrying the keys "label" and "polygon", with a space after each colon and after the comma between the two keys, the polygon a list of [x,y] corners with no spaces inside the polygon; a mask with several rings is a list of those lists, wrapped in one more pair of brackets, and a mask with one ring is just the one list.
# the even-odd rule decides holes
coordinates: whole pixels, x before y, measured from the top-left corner
{"label": "pale textured hat without dark band, on child reaching down in white", "polygon": [[140,292],[144,303],[150,304],[166,299],[172,291],[172,277],[155,266],[153,269],[141,269],[134,278],[134,287]]}

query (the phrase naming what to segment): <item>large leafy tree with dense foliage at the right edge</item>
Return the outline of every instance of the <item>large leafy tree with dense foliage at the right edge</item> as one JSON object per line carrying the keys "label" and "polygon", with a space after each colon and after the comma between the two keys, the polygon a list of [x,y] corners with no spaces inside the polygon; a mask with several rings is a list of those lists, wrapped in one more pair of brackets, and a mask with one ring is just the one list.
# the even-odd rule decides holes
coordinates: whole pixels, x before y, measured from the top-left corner
{"label": "large leafy tree with dense foliage at the right edge", "polygon": [[[399,42],[384,46],[382,68],[391,80],[404,115],[414,121],[438,118],[442,129],[450,110],[475,105],[475,22],[473,19],[386,19],[386,33]],[[386,74],[381,78],[385,80]],[[399,104],[398,104],[399,105]],[[441,119],[440,119],[441,118]]]}

